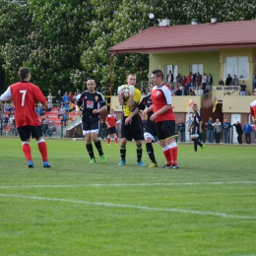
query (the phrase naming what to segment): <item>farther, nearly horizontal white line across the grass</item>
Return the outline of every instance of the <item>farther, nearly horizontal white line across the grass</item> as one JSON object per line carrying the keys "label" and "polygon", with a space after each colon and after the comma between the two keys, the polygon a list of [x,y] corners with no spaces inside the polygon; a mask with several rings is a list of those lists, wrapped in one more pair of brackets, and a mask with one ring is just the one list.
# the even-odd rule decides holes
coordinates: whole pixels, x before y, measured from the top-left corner
{"label": "farther, nearly horizontal white line across the grass", "polygon": [[196,185],[231,185],[231,184],[256,184],[256,181],[212,181],[212,182],[183,182],[183,183],[96,183],[96,184],[69,184],[69,185],[0,185],[0,189],[12,188],[75,188],[75,187],[129,187],[129,186],[196,186]]}

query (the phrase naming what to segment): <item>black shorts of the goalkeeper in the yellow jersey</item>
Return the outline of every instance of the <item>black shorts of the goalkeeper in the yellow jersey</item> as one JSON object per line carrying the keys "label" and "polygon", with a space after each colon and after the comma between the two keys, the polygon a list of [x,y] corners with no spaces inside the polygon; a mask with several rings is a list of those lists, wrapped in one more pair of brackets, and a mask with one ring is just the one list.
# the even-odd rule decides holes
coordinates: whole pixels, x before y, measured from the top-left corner
{"label": "black shorts of the goalkeeper in the yellow jersey", "polygon": [[121,138],[125,138],[127,141],[139,141],[143,139],[143,126],[142,119],[139,114],[135,115],[132,119],[132,123],[125,125],[125,119],[127,117],[122,118],[122,126],[121,126]]}

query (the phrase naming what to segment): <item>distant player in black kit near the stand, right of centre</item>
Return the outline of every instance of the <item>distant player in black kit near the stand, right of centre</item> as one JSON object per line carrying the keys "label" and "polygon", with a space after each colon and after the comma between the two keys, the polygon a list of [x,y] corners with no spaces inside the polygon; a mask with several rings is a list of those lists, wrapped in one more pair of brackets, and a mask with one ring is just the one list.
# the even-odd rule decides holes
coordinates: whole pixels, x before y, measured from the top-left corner
{"label": "distant player in black kit near the stand, right of centre", "polygon": [[188,127],[188,131],[192,128],[191,140],[194,142],[194,151],[197,152],[197,145],[201,147],[202,152],[205,148],[199,140],[199,134],[202,133],[202,115],[200,111],[197,110],[197,104],[193,104],[193,122],[191,122],[190,126]]}

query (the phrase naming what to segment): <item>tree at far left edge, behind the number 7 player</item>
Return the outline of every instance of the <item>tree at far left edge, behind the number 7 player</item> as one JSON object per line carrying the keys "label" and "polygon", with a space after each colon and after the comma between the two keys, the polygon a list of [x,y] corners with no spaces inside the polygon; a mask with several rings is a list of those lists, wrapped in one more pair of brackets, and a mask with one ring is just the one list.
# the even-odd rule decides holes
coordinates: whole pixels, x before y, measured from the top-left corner
{"label": "tree at far left edge, behind the number 7 player", "polygon": [[27,34],[32,17],[27,0],[2,0],[0,5],[0,90],[17,81],[17,72],[27,59]]}

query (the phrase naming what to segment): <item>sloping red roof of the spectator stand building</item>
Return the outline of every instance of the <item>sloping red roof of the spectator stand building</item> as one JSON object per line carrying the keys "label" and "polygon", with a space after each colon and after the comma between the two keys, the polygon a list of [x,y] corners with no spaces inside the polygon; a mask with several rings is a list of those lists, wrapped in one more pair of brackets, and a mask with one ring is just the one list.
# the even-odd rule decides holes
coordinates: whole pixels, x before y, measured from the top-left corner
{"label": "sloping red roof of the spectator stand building", "polygon": [[114,45],[110,53],[154,53],[256,47],[256,20],[151,27]]}

